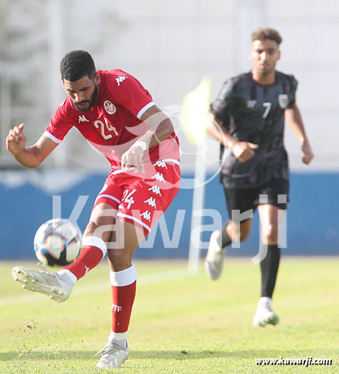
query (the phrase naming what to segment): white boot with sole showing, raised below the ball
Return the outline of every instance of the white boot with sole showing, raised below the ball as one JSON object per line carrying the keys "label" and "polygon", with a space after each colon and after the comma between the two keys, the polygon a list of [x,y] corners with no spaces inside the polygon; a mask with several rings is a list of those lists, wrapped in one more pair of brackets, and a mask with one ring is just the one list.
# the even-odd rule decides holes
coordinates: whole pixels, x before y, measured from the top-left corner
{"label": "white boot with sole showing, raised below the ball", "polygon": [[25,290],[44,293],[56,302],[67,300],[72,293],[72,286],[62,281],[57,273],[39,272],[27,267],[15,266],[12,276]]}

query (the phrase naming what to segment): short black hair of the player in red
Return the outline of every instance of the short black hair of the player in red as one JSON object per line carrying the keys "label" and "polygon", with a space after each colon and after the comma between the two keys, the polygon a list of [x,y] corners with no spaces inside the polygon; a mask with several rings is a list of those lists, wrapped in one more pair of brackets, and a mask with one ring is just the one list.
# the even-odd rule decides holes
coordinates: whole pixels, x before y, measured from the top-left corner
{"label": "short black hair of the player in red", "polygon": [[60,62],[60,73],[67,81],[75,82],[84,76],[93,79],[95,64],[92,56],[86,51],[72,51],[67,53]]}

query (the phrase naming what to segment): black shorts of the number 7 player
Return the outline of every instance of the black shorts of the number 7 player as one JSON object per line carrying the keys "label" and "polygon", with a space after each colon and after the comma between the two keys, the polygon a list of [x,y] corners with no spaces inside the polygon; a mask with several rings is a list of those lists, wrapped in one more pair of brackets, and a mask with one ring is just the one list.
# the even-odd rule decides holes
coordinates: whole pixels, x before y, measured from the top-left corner
{"label": "black shorts of the number 7 player", "polygon": [[284,210],[288,206],[289,180],[287,179],[271,179],[255,189],[224,187],[224,190],[230,219],[234,210],[240,211],[241,214],[252,209],[255,211],[258,205],[262,204],[271,204]]}

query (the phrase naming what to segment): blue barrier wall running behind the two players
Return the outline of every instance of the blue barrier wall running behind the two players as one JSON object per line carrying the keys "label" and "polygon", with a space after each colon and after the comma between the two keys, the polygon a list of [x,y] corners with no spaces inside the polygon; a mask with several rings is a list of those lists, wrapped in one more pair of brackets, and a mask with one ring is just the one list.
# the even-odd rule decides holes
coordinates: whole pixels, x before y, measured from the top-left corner
{"label": "blue barrier wall running behind the two players", "polygon": [[[191,177],[185,175],[185,177]],[[36,229],[52,218],[53,194],[61,196],[62,218],[72,213],[79,195],[88,196],[77,221],[84,231],[95,196],[106,175],[69,171],[2,171],[0,173],[0,260],[34,259]],[[291,176],[290,206],[287,213],[286,255],[334,255],[339,253],[339,174],[296,174]],[[218,178],[206,185],[204,208],[218,211],[227,219],[225,197]],[[179,211],[179,213],[178,213]],[[177,216],[178,214],[178,216]],[[135,258],[184,258],[190,243],[192,189],[180,189],[165,214],[169,239],[173,239],[175,218],[184,218],[178,248],[164,248],[158,227],[152,248],[138,248]],[[179,220],[180,221],[180,220]],[[213,219],[206,216],[204,225]],[[211,230],[211,227],[209,228]],[[211,231],[201,240],[207,242]],[[255,255],[259,248],[258,213],[253,229],[241,248],[230,255]],[[204,255],[205,250],[202,251]]]}

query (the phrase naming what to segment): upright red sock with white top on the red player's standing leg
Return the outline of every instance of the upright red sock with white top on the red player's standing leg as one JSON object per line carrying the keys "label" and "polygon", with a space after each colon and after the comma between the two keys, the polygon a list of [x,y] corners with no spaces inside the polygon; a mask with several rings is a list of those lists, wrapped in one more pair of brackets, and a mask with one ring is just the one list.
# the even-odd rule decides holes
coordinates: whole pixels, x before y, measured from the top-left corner
{"label": "upright red sock with white top on the red player's standing leg", "polygon": [[109,272],[109,278],[112,288],[112,332],[126,333],[135,298],[135,267],[132,265],[121,272]]}

